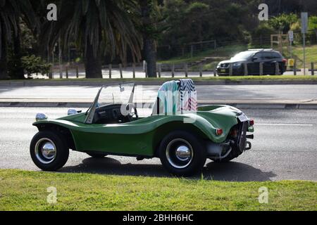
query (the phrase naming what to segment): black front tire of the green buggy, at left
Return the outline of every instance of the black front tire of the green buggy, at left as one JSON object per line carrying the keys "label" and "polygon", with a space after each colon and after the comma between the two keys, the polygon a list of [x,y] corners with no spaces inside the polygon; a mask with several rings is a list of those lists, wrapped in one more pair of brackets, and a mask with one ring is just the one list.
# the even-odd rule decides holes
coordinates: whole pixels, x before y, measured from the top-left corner
{"label": "black front tire of the green buggy, at left", "polygon": [[[44,143],[48,143],[47,141],[53,143],[54,147],[56,148],[56,156],[51,160],[51,162],[44,158],[43,154],[41,155],[41,153],[36,153],[35,149],[37,148],[37,152],[40,152],[39,148],[42,148],[41,145],[44,146]],[[37,165],[37,167],[39,167],[39,169],[44,171],[56,171],[61,169],[61,167],[66,164],[68,160],[69,149],[66,140],[60,134],[56,134],[53,131],[39,131],[37,134],[35,134],[31,141],[30,155],[32,161],[35,163],[35,165]],[[43,163],[44,161],[47,162]]]}

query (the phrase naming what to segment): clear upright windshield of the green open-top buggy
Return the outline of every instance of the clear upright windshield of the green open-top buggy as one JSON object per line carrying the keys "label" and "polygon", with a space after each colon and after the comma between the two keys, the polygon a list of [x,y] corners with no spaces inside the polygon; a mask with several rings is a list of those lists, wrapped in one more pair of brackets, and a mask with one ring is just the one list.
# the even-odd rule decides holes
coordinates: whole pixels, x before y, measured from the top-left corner
{"label": "clear upright windshield of the green open-top buggy", "polygon": [[132,94],[134,86],[135,83],[113,84],[110,86],[104,86],[99,94],[98,106],[101,107],[109,104],[132,103],[130,102],[130,96]]}

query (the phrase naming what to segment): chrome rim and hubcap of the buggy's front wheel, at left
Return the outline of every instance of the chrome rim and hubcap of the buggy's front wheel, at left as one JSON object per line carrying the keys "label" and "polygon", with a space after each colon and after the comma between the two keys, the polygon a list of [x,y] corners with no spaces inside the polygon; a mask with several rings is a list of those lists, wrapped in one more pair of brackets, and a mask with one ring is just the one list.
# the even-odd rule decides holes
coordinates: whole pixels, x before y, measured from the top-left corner
{"label": "chrome rim and hubcap of the buggy's front wheel, at left", "polygon": [[56,146],[50,139],[39,139],[35,144],[35,156],[39,162],[49,164],[56,158]]}

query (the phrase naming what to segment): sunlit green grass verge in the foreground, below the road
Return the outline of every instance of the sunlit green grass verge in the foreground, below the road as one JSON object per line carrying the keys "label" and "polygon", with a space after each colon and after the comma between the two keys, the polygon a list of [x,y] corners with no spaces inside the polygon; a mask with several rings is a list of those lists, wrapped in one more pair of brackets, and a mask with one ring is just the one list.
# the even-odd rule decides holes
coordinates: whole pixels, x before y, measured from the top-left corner
{"label": "sunlit green grass verge in the foreground, below the road", "polygon": [[[57,203],[46,202],[47,188]],[[268,204],[259,188],[268,188]],[[0,210],[317,210],[313,181],[228,182],[173,177],[0,170]]]}

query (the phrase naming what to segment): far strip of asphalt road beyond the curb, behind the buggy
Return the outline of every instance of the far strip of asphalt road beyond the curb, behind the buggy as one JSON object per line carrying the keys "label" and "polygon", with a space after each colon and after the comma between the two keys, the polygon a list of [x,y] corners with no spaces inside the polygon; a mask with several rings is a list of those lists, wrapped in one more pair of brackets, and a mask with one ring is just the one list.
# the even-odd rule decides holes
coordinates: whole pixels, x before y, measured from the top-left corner
{"label": "far strip of asphalt road beyond the curb, behind the buggy", "polygon": [[[0,86],[0,98],[89,99],[98,86]],[[197,85],[197,97],[232,100],[303,100],[317,99],[317,85]],[[137,86],[137,100],[154,101],[159,86]]]}

